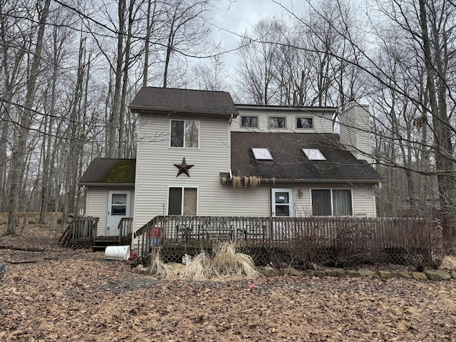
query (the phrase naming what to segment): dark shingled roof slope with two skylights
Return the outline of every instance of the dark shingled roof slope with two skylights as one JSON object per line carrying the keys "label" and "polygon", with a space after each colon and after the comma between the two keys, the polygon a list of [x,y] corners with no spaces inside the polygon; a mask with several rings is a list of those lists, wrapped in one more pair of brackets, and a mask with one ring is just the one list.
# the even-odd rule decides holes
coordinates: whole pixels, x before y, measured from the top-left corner
{"label": "dark shingled roof slope with two skylights", "polygon": [[[256,160],[252,148],[268,148],[273,160]],[[303,148],[318,148],[326,160],[309,160]],[[232,132],[232,175],[291,182],[380,182],[338,134]]]}

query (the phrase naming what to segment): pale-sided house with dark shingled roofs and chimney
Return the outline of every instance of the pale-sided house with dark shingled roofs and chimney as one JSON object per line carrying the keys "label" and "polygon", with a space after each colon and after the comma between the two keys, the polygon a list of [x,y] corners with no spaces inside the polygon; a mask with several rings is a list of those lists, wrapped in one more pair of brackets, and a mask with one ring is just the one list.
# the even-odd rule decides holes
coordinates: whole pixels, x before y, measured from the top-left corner
{"label": "pale-sided house with dark shingled roofs and chimney", "polygon": [[[93,160],[79,182],[97,235],[157,215],[375,217],[368,107],[235,105],[229,93],[143,87],[135,160]],[[135,174],[133,174],[135,171]]]}

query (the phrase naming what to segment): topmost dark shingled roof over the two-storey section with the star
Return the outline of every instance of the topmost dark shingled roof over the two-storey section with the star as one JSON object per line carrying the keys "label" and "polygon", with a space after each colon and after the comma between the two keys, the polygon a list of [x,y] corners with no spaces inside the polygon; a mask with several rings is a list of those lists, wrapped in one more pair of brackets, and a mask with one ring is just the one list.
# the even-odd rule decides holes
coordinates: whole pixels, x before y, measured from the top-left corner
{"label": "topmost dark shingled roof over the two-storey section with the star", "polygon": [[230,118],[239,112],[224,91],[142,87],[129,106],[134,113],[196,113]]}

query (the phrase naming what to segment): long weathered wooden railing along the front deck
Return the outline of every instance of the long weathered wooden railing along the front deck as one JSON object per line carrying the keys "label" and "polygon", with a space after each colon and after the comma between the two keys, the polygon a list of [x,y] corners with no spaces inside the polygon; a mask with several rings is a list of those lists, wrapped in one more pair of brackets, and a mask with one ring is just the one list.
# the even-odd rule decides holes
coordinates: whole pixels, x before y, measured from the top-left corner
{"label": "long weathered wooden railing along the front deck", "polygon": [[133,237],[140,255],[156,245],[201,251],[227,240],[247,249],[296,250],[312,245],[349,253],[437,246],[442,239],[430,220],[369,217],[157,216]]}

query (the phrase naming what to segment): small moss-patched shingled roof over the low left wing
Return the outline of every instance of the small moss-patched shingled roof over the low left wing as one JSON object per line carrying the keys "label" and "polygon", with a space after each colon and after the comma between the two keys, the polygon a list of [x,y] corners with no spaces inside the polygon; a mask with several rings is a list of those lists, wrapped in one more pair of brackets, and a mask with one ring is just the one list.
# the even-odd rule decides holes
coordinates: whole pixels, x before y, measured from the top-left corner
{"label": "small moss-patched shingled roof over the low left wing", "polygon": [[135,159],[95,158],[79,185],[134,185],[135,167]]}

